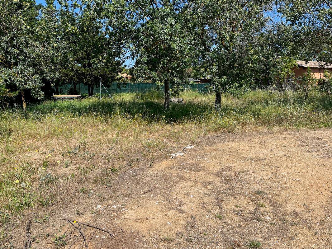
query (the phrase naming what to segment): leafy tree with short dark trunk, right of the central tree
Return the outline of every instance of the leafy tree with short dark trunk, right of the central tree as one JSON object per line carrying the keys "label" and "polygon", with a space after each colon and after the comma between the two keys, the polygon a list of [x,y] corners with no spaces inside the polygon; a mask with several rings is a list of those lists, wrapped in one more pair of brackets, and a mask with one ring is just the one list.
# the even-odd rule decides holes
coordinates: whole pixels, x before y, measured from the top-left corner
{"label": "leafy tree with short dark trunk, right of the central tree", "polygon": [[[278,57],[266,39],[270,2],[265,0],[197,0],[192,24],[198,72],[209,76],[220,106],[221,92],[248,88],[267,77],[270,59]],[[272,33],[271,33],[272,34]]]}

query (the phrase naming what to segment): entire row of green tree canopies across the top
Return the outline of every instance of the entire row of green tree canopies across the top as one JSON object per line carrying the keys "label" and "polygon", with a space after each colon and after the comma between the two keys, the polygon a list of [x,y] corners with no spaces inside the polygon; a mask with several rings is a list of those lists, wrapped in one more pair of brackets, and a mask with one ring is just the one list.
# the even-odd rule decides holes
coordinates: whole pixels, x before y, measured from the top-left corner
{"label": "entire row of green tree canopies across the top", "polygon": [[290,75],[295,59],[332,62],[328,0],[0,0],[0,101],[116,79],[164,85],[164,107],[190,77],[222,91]]}

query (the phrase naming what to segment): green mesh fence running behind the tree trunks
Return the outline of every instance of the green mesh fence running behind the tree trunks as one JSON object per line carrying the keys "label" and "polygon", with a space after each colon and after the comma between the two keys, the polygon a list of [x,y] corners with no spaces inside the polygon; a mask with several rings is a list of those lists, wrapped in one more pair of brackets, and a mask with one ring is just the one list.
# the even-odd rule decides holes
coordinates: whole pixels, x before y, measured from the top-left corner
{"label": "green mesh fence running behind the tree trunks", "polygon": [[[105,86],[107,91],[112,93],[142,93],[147,92],[149,90],[162,90],[163,87],[158,87],[156,83],[119,83],[113,82],[108,86]],[[208,84],[184,84],[184,89],[191,89],[200,92],[207,92],[208,91]],[[94,94],[99,94],[99,85],[98,87],[95,86],[93,89]],[[88,87],[84,84],[77,84],[76,85],[76,92],[77,94],[88,94]],[[72,84],[63,85],[59,87],[59,94],[74,94],[74,87]],[[102,86],[102,94],[107,94],[105,88]]]}

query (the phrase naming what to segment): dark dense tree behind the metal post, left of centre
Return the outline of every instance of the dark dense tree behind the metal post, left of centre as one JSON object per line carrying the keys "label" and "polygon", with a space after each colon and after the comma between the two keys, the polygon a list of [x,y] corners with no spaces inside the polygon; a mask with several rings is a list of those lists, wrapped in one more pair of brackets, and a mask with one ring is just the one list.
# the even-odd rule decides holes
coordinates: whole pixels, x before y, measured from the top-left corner
{"label": "dark dense tree behind the metal post, left of centre", "polygon": [[125,56],[127,18],[124,1],[59,1],[60,38],[69,49],[62,65],[62,81],[83,82],[89,96],[103,77],[111,81]]}

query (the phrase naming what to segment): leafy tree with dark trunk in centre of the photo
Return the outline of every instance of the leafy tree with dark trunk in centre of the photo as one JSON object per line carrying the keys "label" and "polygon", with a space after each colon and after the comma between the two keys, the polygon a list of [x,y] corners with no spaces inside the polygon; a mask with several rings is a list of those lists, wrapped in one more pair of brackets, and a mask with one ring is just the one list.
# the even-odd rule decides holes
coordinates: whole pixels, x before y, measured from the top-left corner
{"label": "leafy tree with dark trunk in centre of the photo", "polygon": [[133,0],[135,37],[131,56],[135,76],[164,84],[164,108],[169,108],[170,86],[185,80],[191,64],[189,4],[185,0]]}

